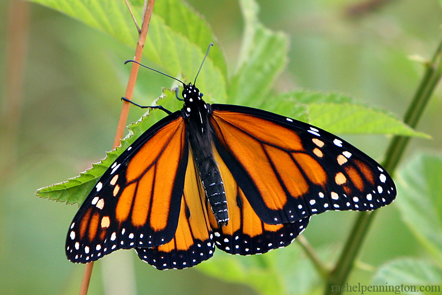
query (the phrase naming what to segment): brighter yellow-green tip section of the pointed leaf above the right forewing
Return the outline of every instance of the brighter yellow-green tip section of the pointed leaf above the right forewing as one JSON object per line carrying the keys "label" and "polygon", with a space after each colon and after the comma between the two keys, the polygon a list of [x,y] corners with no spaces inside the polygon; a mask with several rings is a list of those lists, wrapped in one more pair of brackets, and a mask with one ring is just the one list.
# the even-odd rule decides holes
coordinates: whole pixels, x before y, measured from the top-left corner
{"label": "brighter yellow-green tip section of the pointed leaf above the right forewing", "polygon": [[331,133],[394,134],[429,138],[414,131],[399,118],[384,110],[350,103],[312,103],[308,105],[310,124]]}

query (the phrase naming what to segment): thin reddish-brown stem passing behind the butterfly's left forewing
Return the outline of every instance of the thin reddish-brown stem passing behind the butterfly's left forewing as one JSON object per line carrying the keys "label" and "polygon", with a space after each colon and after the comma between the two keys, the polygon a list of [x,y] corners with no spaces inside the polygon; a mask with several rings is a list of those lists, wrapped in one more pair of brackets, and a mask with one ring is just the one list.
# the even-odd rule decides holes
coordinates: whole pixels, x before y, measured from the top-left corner
{"label": "thin reddish-brown stem passing behind the butterfly's left forewing", "polygon": [[[141,32],[138,35],[138,43],[134,57],[134,60],[138,62],[141,61],[141,57],[143,55],[144,43],[146,41],[147,30],[149,29],[150,17],[152,16],[154,3],[155,0],[149,0],[147,3],[147,9],[144,11],[143,23],[141,26]],[[135,82],[137,81],[137,76],[138,76],[138,68],[139,68],[138,63],[132,62],[131,74],[129,76],[129,81],[127,83],[126,94],[125,94],[125,97],[129,100],[132,100],[132,94],[134,93]],[[115,132],[115,139],[113,141],[113,148],[118,147],[120,145],[121,139],[123,138],[127,117],[129,115],[130,105],[131,104],[129,102],[125,101],[123,102],[123,106],[121,107],[120,119],[118,121],[117,130]],[[84,268],[80,295],[87,295],[87,290],[89,288],[89,282],[90,282],[90,277],[92,275],[93,266],[94,263],[91,262],[86,264]]]}

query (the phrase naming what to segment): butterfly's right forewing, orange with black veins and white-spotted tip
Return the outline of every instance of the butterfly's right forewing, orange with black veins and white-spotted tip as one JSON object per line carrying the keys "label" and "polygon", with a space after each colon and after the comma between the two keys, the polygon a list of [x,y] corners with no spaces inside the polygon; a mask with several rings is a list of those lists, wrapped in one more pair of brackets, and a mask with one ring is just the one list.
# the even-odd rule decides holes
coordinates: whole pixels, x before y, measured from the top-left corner
{"label": "butterfly's right forewing, orange with black veins and white-spotted tip", "polygon": [[216,149],[268,224],[327,210],[373,210],[396,196],[376,161],[329,132],[262,110],[212,108]]}

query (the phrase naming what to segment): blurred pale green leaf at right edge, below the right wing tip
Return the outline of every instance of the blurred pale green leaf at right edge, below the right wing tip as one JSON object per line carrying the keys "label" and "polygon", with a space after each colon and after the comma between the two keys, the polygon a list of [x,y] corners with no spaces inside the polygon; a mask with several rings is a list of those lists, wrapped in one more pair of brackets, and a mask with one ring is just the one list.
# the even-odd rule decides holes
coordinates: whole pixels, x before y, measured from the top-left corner
{"label": "blurred pale green leaf at right edge, below the right wing tip", "polygon": [[442,156],[421,153],[397,173],[402,219],[442,265]]}

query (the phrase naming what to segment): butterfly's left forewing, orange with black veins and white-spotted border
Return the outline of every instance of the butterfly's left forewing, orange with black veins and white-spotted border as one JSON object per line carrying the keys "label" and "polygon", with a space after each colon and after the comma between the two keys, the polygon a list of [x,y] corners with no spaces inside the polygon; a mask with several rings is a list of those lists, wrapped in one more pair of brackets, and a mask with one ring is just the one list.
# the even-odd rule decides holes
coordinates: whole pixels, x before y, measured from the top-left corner
{"label": "butterfly's left forewing, orange with black veins and white-spotted border", "polygon": [[75,215],[66,238],[68,259],[87,263],[117,249],[169,242],[178,224],[188,152],[181,112],[141,135]]}

